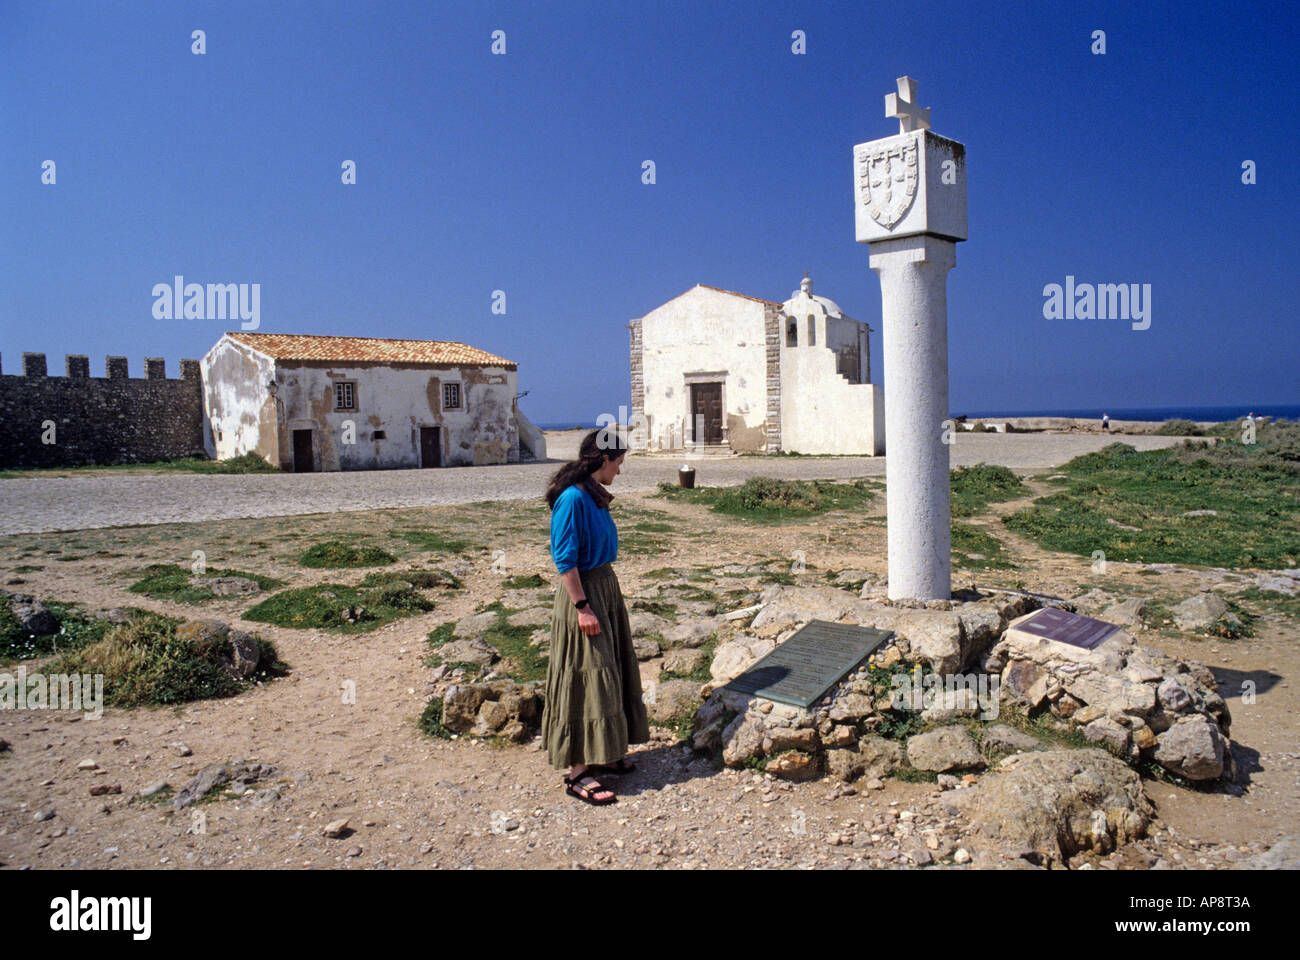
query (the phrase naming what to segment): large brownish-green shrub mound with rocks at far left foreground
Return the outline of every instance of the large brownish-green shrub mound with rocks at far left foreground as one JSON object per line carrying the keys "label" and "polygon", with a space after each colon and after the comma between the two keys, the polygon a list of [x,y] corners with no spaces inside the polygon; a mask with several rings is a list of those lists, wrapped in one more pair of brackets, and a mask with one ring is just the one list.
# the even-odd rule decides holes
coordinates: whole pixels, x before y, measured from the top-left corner
{"label": "large brownish-green shrub mound with rocks at far left foreground", "polygon": [[192,639],[177,630],[181,623],[142,613],[98,641],[61,654],[49,673],[103,674],[104,704],[124,708],[229,697],[286,673],[274,645],[257,637],[257,673],[247,680],[235,679],[222,666],[229,658],[229,639]]}

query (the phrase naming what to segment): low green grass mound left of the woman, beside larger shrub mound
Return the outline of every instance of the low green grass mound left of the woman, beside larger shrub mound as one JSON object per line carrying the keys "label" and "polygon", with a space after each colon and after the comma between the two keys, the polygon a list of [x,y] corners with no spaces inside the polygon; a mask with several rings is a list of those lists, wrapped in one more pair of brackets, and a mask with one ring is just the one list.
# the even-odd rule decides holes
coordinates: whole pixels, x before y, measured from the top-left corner
{"label": "low green grass mound left of the woman, beside larger shrub mound", "polygon": [[436,604],[399,583],[347,587],[322,583],[282,591],[246,611],[246,620],[298,630],[364,633],[385,623],[433,610]]}

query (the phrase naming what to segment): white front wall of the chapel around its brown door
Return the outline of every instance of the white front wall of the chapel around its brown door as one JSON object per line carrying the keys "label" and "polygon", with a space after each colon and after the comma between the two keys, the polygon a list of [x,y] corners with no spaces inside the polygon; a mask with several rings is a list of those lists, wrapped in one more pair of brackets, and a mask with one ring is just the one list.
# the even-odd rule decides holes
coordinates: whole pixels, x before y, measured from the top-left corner
{"label": "white front wall of the chapel around its brown door", "polygon": [[[723,442],[766,449],[767,330],[758,300],[693,287],[640,321],[644,412],[651,450],[682,447],[690,393],[686,376],[725,371]],[[757,432],[757,433],[755,433]]]}

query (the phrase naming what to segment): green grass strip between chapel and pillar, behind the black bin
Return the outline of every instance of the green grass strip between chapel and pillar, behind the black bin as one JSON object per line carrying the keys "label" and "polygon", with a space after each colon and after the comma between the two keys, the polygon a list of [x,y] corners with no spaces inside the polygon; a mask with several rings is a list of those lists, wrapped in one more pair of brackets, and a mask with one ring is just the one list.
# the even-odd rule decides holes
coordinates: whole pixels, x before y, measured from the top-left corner
{"label": "green grass strip between chapel and pillar, behind the black bin", "polygon": [[875,498],[875,485],[866,480],[833,483],[755,476],[740,487],[690,490],[662,481],[655,496],[702,503],[715,513],[754,523],[783,523],[832,510],[861,510]]}

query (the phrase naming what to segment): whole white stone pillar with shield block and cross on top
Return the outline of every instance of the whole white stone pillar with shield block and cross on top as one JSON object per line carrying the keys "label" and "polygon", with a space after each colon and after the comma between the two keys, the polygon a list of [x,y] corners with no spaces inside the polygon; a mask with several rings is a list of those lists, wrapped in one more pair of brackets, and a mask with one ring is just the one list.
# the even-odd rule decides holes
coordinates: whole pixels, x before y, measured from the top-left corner
{"label": "whole white stone pillar with shield block and cross on top", "polygon": [[885,116],[900,131],[853,148],[859,243],[880,277],[889,597],[952,597],[948,271],[966,239],[966,147],[930,127],[916,82]]}

